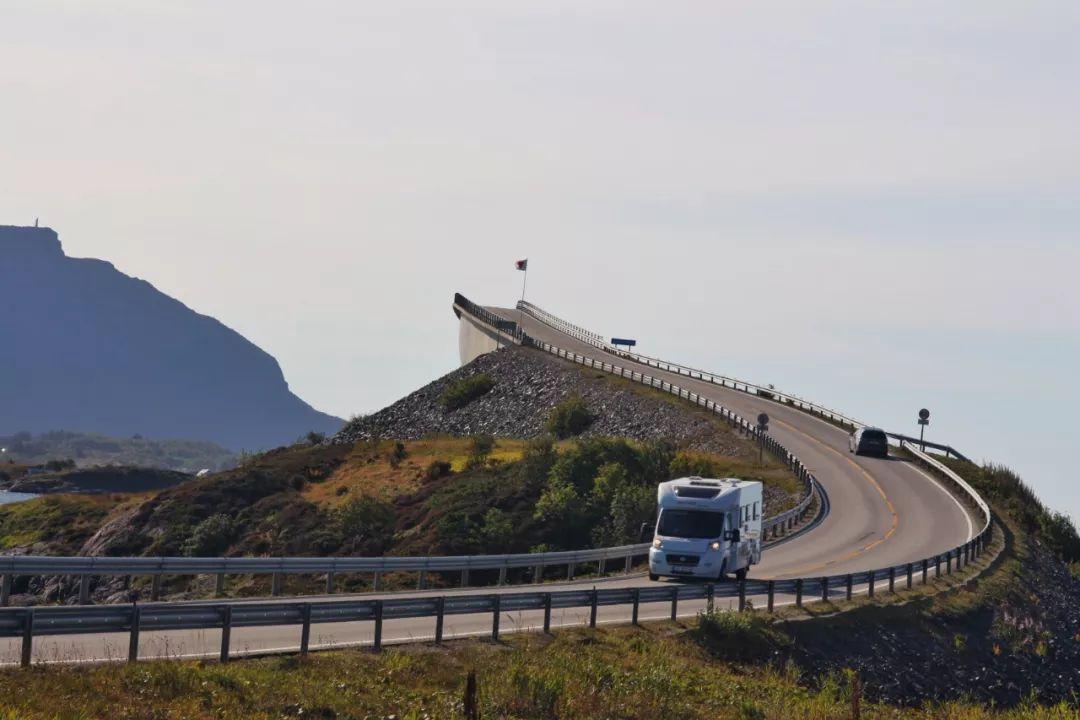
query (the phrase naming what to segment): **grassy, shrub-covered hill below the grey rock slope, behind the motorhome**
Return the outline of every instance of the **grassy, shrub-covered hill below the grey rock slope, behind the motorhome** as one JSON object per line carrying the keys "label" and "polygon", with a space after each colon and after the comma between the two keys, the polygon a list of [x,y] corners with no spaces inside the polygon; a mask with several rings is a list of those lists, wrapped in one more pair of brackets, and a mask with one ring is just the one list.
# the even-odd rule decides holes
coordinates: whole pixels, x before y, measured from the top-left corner
{"label": "grassy, shrub-covered hill below the grey rock slope, behind the motorhome", "polygon": [[[791,507],[800,491],[783,466],[757,464],[750,445],[721,456],[663,440],[597,437],[298,444],[160,491],[48,495],[0,506],[0,551],[373,556],[576,549],[636,542],[640,524],[653,517],[656,484],[686,474],[761,479],[769,513]],[[51,530],[56,527],[79,531]],[[342,582],[361,589],[367,580]],[[106,600],[122,581],[98,582],[95,596]],[[198,582],[174,578],[166,589],[198,594]],[[303,592],[303,582],[288,578],[295,587],[286,590]],[[265,593],[266,583],[237,579],[230,590]],[[17,579],[16,592],[48,599],[66,593],[37,578]]]}

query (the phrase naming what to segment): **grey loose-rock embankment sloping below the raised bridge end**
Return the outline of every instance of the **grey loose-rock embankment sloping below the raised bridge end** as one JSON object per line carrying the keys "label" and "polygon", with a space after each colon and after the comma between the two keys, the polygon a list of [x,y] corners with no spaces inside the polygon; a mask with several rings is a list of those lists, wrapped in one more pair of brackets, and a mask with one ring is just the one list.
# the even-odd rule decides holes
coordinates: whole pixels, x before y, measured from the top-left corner
{"label": "grey loose-rock embankment sloping below the raised bridge end", "polygon": [[[443,408],[440,399],[448,386],[480,373],[494,381],[488,393],[457,410]],[[575,394],[593,416],[584,435],[671,438],[696,450],[728,456],[746,451],[716,421],[676,398],[523,348],[481,355],[393,405],[349,423],[334,441],[478,434],[535,437],[545,432],[554,407]]]}

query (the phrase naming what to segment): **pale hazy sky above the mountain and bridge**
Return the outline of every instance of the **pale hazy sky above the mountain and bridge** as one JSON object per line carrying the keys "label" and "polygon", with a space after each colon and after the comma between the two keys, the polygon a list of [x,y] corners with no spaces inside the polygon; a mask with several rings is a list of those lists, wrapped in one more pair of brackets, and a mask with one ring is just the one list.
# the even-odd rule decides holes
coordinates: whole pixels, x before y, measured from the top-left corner
{"label": "pale hazy sky above the mountain and bridge", "polygon": [[0,0],[0,223],[341,417],[455,291],[929,435],[1080,518],[1080,4]]}

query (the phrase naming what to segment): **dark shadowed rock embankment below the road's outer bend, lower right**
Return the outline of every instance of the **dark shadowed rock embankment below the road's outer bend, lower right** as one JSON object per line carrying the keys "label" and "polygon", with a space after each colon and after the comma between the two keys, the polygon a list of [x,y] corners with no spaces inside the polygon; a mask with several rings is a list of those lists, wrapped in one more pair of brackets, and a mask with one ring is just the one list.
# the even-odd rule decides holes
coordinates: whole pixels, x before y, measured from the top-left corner
{"label": "dark shadowed rock embankment below the road's outer bend, lower right", "polygon": [[908,603],[789,623],[792,658],[816,675],[856,670],[870,697],[901,705],[1075,699],[1080,580],[1038,545],[1025,562],[1002,600],[972,610],[920,612]]}

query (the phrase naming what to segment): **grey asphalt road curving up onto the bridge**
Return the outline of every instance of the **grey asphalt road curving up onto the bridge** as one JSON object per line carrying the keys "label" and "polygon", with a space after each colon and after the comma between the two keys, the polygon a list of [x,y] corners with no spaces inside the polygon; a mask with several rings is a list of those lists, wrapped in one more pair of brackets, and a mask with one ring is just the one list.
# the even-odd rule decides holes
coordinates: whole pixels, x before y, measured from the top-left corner
{"label": "grey asphalt road curving up onto the bridge", "polygon": [[[516,310],[489,310],[508,320],[519,320]],[[596,359],[615,361],[617,364],[629,363],[558,332],[528,315],[522,318],[522,325],[532,337],[566,350]],[[798,538],[769,548],[762,562],[752,569],[751,575],[754,578],[831,575],[899,565],[959,545],[976,530],[973,515],[936,480],[900,459],[850,454],[847,433],[835,425],[778,403],[730,389],[633,363],[629,365],[635,370],[710,397],[744,418],[753,419],[758,412],[768,412],[771,419],[770,433],[813,472],[827,492],[831,506],[828,515]],[[600,581],[548,584],[544,589],[580,588],[583,584],[617,587],[648,583],[645,575],[631,574]],[[883,588],[885,584],[879,587]],[[513,593],[524,589],[527,588],[514,586],[480,592]],[[383,597],[461,592],[477,590],[432,590],[386,594]],[[865,587],[856,587],[855,592],[865,592]],[[312,596],[310,599],[338,600],[345,597]],[[751,601],[762,606],[765,598],[752,597]],[[794,598],[791,597],[777,597],[778,604],[793,601]],[[727,602],[728,600],[718,600],[719,607]],[[700,601],[681,602],[679,616],[693,615],[702,607]],[[670,616],[670,611],[667,603],[643,604],[640,617],[660,620]],[[598,613],[600,623],[626,622],[629,617],[629,606],[605,607]],[[556,627],[581,625],[588,619],[586,608],[554,611],[552,624]],[[503,633],[512,633],[536,629],[541,623],[542,615],[539,612],[507,613],[502,617],[501,628]],[[445,636],[487,635],[490,629],[490,614],[447,616]],[[295,650],[299,646],[299,633],[297,626],[234,628],[232,652],[242,655]],[[383,642],[392,644],[424,640],[430,639],[433,633],[433,619],[390,620],[383,626]],[[316,625],[312,628],[311,647],[348,647],[370,643],[372,639],[372,623]],[[213,656],[218,652],[220,631],[144,633],[140,640],[141,657]],[[124,634],[42,637],[35,639],[33,657],[38,662],[99,662],[126,657],[126,650],[127,636]],[[0,663],[17,662],[18,651],[17,639],[0,640]]]}

